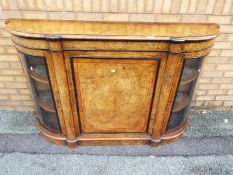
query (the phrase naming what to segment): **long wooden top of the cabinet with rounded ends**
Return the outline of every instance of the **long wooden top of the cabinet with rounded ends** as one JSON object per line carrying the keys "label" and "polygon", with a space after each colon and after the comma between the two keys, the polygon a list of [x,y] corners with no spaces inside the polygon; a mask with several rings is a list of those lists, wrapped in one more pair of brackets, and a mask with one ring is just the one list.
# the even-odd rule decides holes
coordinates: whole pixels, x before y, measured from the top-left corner
{"label": "long wooden top of the cabinet with rounded ends", "polygon": [[218,35],[213,23],[130,23],[58,20],[7,20],[18,36],[47,39],[207,40]]}

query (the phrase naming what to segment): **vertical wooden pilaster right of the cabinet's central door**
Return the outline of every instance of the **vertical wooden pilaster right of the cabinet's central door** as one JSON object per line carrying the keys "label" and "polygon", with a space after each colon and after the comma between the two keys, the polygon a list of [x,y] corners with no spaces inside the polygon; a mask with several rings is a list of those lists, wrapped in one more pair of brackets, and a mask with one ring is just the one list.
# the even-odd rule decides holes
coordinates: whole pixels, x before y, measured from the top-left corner
{"label": "vertical wooden pilaster right of the cabinet's central door", "polygon": [[167,65],[159,97],[158,110],[152,132],[151,145],[156,146],[161,141],[169,120],[173,100],[183,64],[183,38],[172,38],[167,55]]}

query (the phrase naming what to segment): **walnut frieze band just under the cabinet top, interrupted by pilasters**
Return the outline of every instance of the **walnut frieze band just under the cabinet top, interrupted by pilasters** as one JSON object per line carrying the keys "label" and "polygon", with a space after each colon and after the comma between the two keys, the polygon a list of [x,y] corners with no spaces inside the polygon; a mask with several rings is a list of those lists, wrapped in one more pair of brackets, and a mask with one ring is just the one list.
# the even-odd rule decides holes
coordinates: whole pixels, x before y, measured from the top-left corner
{"label": "walnut frieze band just under the cabinet top, interrupted by pilasters", "polygon": [[[30,38],[20,38],[18,36],[12,36],[12,40],[15,44],[31,49],[49,50],[48,42],[42,39],[31,40]],[[168,51],[169,43],[166,42],[149,42],[149,41],[105,41],[103,45],[102,41],[76,41],[65,40],[63,42],[63,50],[103,50],[103,51]],[[197,52],[203,49],[212,47],[214,40],[205,40],[201,42],[190,42],[183,46],[183,52]]]}

